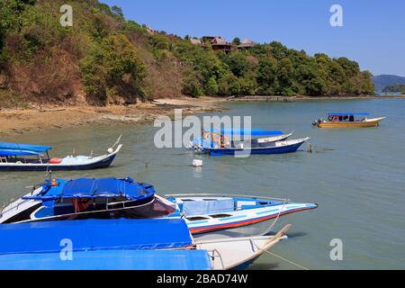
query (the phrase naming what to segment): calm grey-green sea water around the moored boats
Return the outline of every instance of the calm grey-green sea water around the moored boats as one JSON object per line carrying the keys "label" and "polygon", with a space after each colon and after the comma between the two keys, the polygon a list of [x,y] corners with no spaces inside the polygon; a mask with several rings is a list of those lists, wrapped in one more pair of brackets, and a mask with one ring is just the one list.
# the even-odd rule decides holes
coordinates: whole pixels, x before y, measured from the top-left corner
{"label": "calm grey-green sea water around the moored boats", "polygon": [[[311,137],[297,153],[248,158],[199,156],[201,169],[190,166],[184,149],[157,149],[149,125],[94,125],[25,134],[14,140],[50,144],[54,156],[100,154],[120,133],[121,154],[108,169],[58,172],[59,177],[126,176],[149,182],[159,193],[244,193],[317,202],[320,207],[282,217],[275,229],[293,224],[289,238],[272,251],[310,269],[405,268],[405,101],[309,101],[297,103],[225,103],[218,114],[251,115],[253,126],[295,130]],[[328,111],[371,112],[386,116],[378,128],[320,130],[311,121]],[[44,173],[1,173],[0,202],[22,195]],[[343,260],[329,257],[330,240],[343,242]],[[297,269],[264,255],[253,269]]]}

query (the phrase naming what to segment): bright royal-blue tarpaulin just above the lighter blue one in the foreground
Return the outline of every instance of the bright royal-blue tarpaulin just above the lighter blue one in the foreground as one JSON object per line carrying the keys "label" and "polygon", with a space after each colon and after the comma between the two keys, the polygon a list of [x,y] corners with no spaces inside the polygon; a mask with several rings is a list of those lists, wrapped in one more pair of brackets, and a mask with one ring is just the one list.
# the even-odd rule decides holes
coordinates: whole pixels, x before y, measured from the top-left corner
{"label": "bright royal-blue tarpaulin just above the lighter blue one in the foreground", "polygon": [[[181,219],[63,220],[0,225],[0,255],[73,251],[166,249],[192,245]],[[62,241],[62,242],[61,242]]]}

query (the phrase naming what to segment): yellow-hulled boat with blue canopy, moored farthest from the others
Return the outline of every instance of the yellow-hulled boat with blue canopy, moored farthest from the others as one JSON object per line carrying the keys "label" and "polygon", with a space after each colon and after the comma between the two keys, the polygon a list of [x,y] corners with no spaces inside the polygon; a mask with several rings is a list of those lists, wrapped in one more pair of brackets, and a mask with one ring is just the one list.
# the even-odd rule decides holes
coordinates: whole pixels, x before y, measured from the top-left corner
{"label": "yellow-hulled boat with blue canopy, moored farthest from the others", "polygon": [[319,119],[312,125],[319,128],[365,128],[375,127],[386,117],[367,118],[367,112],[329,112],[328,120]]}

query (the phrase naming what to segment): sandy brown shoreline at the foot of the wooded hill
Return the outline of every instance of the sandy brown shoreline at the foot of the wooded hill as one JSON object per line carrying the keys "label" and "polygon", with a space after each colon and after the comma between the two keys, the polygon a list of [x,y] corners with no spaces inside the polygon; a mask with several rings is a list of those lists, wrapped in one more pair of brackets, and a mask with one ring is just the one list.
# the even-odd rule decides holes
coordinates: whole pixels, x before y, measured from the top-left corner
{"label": "sandy brown shoreline at the foot of the wooded hill", "polygon": [[153,122],[157,115],[173,117],[174,109],[183,109],[184,115],[219,112],[223,110],[218,105],[220,102],[221,99],[213,97],[184,97],[157,99],[150,103],[127,106],[49,105],[31,109],[4,109],[0,110],[0,137],[7,138],[39,130],[64,129],[92,123],[143,124]]}

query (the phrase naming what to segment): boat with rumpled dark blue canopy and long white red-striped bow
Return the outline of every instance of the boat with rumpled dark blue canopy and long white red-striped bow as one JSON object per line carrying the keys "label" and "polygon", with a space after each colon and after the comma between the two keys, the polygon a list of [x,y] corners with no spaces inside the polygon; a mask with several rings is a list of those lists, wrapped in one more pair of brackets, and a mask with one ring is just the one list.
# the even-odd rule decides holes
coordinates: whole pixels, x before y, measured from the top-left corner
{"label": "boat with rumpled dark blue canopy and long white red-striped bow", "polygon": [[130,178],[49,179],[7,205],[0,223],[90,218],[184,219],[198,237],[208,232],[253,235],[264,231],[268,220],[317,208],[315,203],[288,199],[215,194],[160,196],[150,184]]}

